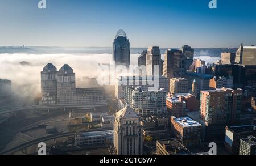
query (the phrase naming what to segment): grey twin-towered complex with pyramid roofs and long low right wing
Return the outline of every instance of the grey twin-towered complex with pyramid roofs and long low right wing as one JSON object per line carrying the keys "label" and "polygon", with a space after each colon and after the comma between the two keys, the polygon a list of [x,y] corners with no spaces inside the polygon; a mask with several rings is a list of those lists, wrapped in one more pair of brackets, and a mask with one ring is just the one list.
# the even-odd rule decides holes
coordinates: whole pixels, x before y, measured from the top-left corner
{"label": "grey twin-towered complex with pyramid roofs and long low right wing", "polygon": [[76,74],[65,64],[59,71],[48,63],[41,72],[42,100],[40,105],[104,105],[105,92],[101,87],[76,88]]}

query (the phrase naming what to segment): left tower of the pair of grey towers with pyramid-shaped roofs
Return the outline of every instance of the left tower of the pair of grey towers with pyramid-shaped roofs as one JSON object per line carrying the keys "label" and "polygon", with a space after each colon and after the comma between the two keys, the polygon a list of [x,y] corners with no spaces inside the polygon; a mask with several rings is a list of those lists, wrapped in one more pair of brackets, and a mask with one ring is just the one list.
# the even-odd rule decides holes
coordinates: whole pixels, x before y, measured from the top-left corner
{"label": "left tower of the pair of grey towers with pyramid-shaped roofs", "polygon": [[57,68],[48,63],[41,71],[41,93],[42,95],[56,96],[57,93]]}

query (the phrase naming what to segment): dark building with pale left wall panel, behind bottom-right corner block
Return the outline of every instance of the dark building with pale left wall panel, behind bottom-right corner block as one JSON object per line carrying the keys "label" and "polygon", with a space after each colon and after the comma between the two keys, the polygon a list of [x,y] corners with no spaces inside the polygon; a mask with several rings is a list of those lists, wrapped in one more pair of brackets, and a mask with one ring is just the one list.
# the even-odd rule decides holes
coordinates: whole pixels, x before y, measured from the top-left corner
{"label": "dark building with pale left wall panel, behind bottom-right corner block", "polygon": [[239,155],[240,139],[250,135],[256,137],[255,125],[226,126],[225,150]]}

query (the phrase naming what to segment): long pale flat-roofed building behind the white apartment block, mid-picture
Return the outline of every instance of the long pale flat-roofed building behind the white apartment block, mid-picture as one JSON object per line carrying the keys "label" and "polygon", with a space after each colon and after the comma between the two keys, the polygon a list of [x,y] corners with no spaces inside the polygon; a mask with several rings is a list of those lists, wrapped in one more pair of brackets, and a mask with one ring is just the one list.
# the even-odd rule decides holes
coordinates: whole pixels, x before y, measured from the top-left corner
{"label": "long pale flat-roofed building behind the white apartment block, mid-picture", "polygon": [[120,76],[115,79],[115,97],[124,99],[126,87],[139,86],[147,91],[150,88],[152,91],[164,89],[169,90],[169,80],[164,76],[152,76],[147,78],[144,76]]}

